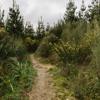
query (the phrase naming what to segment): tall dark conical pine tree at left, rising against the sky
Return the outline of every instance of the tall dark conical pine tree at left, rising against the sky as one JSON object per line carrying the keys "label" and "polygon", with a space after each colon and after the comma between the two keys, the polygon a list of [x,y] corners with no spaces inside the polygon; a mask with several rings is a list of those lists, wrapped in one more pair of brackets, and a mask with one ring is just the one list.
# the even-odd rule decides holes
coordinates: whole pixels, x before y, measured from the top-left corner
{"label": "tall dark conical pine tree at left, rising against the sky", "polygon": [[13,7],[9,9],[9,16],[7,18],[6,30],[14,35],[20,37],[23,35],[24,25],[23,18],[20,15],[19,6],[13,0]]}

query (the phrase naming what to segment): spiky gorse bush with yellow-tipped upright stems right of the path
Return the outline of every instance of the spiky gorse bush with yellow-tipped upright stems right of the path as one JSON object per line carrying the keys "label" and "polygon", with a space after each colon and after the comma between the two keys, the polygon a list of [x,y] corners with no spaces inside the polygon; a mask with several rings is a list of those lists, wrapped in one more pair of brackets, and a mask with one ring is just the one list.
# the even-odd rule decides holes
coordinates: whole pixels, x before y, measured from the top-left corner
{"label": "spiky gorse bush with yellow-tipped upright stems right of the path", "polygon": [[70,45],[68,42],[65,44],[63,41],[60,41],[59,44],[54,44],[54,50],[65,65],[73,63],[77,52],[75,45]]}

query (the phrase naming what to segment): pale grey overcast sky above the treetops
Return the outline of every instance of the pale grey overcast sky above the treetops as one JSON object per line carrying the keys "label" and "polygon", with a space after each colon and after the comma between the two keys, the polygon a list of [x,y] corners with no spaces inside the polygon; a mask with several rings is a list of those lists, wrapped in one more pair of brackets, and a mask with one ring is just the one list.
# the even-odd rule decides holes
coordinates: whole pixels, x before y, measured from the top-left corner
{"label": "pale grey overcast sky above the treetops", "polygon": [[[21,14],[25,21],[31,21],[36,27],[40,16],[43,16],[44,22],[53,24],[58,19],[63,18],[66,3],[68,0],[16,0],[20,6]],[[85,0],[86,4],[90,0]],[[81,0],[76,0],[78,7],[81,5]],[[0,0],[0,8],[5,10],[7,14],[8,8],[12,6],[12,0]]]}

